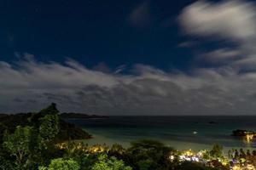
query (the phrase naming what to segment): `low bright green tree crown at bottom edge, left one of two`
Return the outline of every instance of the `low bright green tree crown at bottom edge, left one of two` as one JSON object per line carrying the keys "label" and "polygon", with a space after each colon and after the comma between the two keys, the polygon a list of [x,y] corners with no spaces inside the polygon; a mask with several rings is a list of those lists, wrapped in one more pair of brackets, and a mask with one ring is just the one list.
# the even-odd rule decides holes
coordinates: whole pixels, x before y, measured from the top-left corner
{"label": "low bright green tree crown at bottom edge, left one of two", "polygon": [[77,161],[73,159],[65,160],[57,158],[50,161],[49,167],[39,167],[39,170],[79,170],[80,166]]}

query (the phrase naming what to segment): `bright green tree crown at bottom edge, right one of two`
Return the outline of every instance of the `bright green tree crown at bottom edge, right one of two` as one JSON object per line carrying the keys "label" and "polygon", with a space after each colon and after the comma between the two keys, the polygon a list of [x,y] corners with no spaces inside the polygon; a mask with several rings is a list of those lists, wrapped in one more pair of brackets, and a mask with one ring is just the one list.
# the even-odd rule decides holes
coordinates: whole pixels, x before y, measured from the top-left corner
{"label": "bright green tree crown at bottom edge, right one of two", "polygon": [[116,157],[108,158],[107,155],[99,156],[98,161],[92,166],[91,170],[132,170],[125,166],[124,161],[117,160]]}

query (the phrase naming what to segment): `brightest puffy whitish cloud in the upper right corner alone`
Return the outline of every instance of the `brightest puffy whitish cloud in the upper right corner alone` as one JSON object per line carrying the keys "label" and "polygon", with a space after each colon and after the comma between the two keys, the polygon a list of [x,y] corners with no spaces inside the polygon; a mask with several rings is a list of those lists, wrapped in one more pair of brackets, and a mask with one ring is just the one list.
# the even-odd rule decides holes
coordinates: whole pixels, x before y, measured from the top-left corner
{"label": "brightest puffy whitish cloud in the upper right corner alone", "polygon": [[256,35],[254,6],[243,1],[198,1],[183,9],[179,21],[183,31],[196,36],[247,42]]}

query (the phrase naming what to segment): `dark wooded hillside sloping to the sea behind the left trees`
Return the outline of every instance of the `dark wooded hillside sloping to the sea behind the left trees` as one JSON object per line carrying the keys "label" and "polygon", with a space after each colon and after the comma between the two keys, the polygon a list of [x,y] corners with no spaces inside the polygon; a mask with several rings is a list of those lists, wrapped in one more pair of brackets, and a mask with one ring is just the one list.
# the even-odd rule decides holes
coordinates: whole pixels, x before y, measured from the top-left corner
{"label": "dark wooded hillside sloping to the sea behind the left trees", "polygon": [[73,123],[65,122],[59,116],[59,111],[55,104],[49,105],[46,109],[38,113],[18,113],[14,115],[1,114],[0,115],[0,142],[3,141],[4,132],[14,133],[17,126],[39,127],[44,118],[55,119],[49,121],[57,121],[60,129],[55,135],[56,141],[63,141],[68,139],[90,139],[91,135],[84,132],[80,127],[76,127]]}

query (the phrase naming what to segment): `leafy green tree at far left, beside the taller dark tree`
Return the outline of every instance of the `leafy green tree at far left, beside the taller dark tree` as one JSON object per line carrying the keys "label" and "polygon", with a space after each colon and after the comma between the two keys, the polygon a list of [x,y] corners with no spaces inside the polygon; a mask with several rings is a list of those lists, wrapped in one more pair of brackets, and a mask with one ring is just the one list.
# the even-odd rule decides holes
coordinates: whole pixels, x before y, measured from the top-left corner
{"label": "leafy green tree at far left, beside the taller dark tree", "polygon": [[15,163],[18,168],[26,169],[29,160],[29,144],[31,142],[32,127],[18,126],[15,133],[7,134],[3,146],[12,156],[15,156]]}

